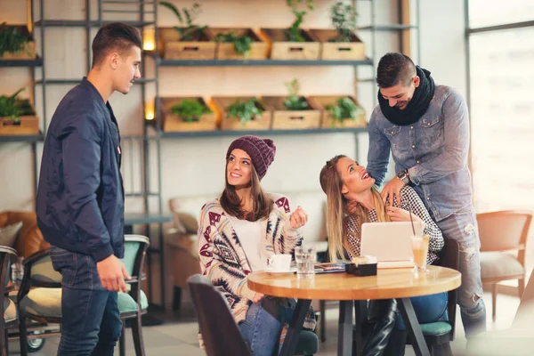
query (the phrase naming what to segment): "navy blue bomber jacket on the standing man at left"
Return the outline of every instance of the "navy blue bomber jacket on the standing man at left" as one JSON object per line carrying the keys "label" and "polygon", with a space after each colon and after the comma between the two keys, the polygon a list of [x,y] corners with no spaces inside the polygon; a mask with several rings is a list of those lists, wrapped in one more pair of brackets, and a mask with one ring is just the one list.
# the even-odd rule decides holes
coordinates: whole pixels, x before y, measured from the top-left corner
{"label": "navy blue bomber jacket on the standing man at left", "polygon": [[84,77],[53,114],[37,189],[37,224],[53,246],[99,262],[124,255],[120,136],[109,103]]}

